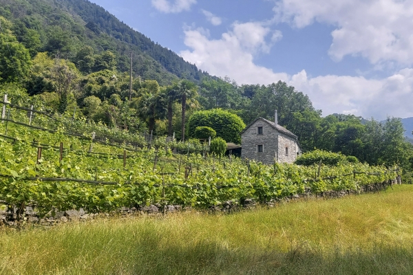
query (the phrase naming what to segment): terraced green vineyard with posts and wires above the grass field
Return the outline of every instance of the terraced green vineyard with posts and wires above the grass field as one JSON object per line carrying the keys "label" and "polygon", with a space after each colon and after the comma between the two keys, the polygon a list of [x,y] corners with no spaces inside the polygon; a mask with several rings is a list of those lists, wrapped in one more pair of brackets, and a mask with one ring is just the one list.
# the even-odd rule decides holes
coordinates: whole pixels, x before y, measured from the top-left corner
{"label": "terraced green vineyard with posts and wires above the grass field", "polygon": [[36,115],[43,127],[32,126],[35,121],[26,111],[14,109],[12,118],[7,111],[0,124],[0,201],[17,208],[18,215],[25,206],[45,214],[78,208],[109,212],[154,203],[163,208],[209,208],[246,199],[265,203],[308,190],[360,190],[398,175],[396,168],[367,164],[267,166],[207,156],[202,144],[191,150],[186,144],[186,153],[175,154],[176,142],[97,142],[90,130],[86,133],[74,123],[67,129],[67,123],[56,120],[51,131],[50,118]]}

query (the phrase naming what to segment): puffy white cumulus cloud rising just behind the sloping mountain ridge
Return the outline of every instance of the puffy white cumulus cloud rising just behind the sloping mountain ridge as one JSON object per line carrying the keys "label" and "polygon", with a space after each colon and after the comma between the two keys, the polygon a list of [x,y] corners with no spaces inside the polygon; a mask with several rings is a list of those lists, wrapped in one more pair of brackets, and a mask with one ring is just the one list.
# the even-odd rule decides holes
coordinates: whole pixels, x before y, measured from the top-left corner
{"label": "puffy white cumulus cloud rising just behind the sloping mountain ridge", "polygon": [[266,36],[269,28],[261,23],[237,23],[221,39],[209,39],[204,30],[184,30],[184,43],[191,50],[180,52],[187,61],[217,76],[230,76],[239,83],[272,83],[288,80],[287,74],[276,74],[272,69],[255,65],[254,55],[268,52],[271,44]]}

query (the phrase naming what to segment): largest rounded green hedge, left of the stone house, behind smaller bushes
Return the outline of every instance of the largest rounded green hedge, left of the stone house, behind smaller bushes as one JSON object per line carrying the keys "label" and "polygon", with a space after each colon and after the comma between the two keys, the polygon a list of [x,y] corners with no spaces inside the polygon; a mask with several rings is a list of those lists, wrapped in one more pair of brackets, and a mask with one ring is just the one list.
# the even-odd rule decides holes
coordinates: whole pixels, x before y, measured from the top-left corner
{"label": "largest rounded green hedge, left of the stone house, behind smaller bushes", "polygon": [[208,126],[214,129],[217,137],[222,137],[226,142],[241,143],[241,131],[245,128],[242,119],[229,111],[211,109],[197,111],[188,121],[189,136],[194,137],[195,129],[199,126]]}

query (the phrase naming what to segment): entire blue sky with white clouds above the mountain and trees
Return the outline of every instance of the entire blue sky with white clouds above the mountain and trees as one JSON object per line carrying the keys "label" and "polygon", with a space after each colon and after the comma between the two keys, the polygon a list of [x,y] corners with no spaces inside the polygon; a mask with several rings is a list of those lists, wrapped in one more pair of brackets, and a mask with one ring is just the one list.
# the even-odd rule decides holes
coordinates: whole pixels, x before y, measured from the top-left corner
{"label": "entire blue sky with white clouds above the mountain and trees", "polygon": [[413,1],[92,2],[210,74],[286,81],[324,115],[413,116]]}

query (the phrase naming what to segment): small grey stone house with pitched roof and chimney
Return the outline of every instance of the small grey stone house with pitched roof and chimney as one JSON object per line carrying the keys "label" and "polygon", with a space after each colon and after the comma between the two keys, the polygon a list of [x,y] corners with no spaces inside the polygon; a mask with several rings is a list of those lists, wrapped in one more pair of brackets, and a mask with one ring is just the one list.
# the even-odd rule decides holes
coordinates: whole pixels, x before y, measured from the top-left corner
{"label": "small grey stone house with pitched roof and chimney", "polygon": [[275,122],[257,118],[241,132],[241,157],[255,159],[264,164],[277,162],[293,163],[301,148],[297,135]]}

